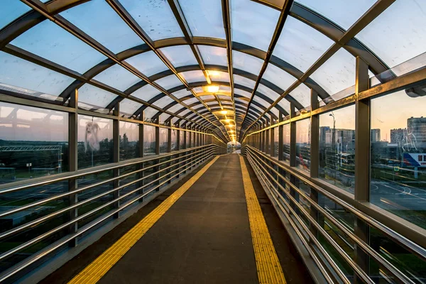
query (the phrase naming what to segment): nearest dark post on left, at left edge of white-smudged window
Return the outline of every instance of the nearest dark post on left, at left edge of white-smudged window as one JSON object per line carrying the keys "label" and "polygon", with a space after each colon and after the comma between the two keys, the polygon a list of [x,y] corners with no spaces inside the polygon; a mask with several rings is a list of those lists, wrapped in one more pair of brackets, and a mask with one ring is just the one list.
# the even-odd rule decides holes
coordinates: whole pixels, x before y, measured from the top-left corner
{"label": "nearest dark post on left, at left edge of white-smudged window", "polygon": [[[68,131],[68,143],[70,145],[70,160],[69,160],[69,168],[70,168],[70,172],[75,172],[77,170],[77,155],[78,155],[78,143],[77,143],[77,129],[78,129],[78,114],[77,114],[77,109],[78,109],[78,90],[75,89],[74,92],[71,93],[70,96],[70,107],[72,109],[74,109],[73,112],[69,113],[68,116],[68,126],[69,126],[69,131]],[[76,178],[70,178],[70,180],[68,180],[68,191],[72,192],[74,190],[77,190],[77,179]],[[69,200],[69,205],[73,205],[76,204],[78,202],[77,200],[77,194],[72,194],[68,196]],[[70,221],[72,219],[77,218],[78,216],[78,212],[77,209],[71,209],[69,212],[69,216],[68,218],[70,219]],[[68,228],[68,234],[75,234],[77,233],[77,222],[75,222],[74,224],[70,225]],[[68,246],[70,247],[74,247],[77,246],[77,238],[72,239],[71,241],[68,242]]]}

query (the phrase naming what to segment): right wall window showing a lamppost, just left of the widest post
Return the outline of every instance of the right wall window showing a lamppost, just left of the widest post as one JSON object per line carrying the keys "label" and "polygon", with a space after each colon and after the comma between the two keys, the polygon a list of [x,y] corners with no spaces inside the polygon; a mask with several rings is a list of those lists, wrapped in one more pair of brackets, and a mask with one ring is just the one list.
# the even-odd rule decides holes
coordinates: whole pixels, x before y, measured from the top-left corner
{"label": "right wall window showing a lamppost, just left of the widest post", "polygon": [[355,106],[320,114],[322,180],[354,193]]}

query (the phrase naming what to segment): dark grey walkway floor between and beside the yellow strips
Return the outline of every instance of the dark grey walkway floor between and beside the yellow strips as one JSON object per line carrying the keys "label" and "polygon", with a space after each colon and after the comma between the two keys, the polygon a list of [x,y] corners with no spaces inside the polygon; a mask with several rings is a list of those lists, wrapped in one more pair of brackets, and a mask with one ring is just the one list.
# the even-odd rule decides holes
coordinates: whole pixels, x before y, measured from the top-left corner
{"label": "dark grey walkway floor between and beside the yellow strips", "polygon": [[[288,283],[312,283],[246,162]],[[43,283],[67,283],[190,177],[89,246]],[[258,283],[239,155],[217,159],[99,283]]]}

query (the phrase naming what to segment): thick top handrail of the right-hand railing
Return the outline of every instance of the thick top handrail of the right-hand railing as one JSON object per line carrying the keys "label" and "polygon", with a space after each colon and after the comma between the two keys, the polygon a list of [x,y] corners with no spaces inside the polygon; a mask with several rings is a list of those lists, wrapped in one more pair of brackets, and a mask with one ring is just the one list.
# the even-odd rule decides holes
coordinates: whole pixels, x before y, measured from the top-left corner
{"label": "thick top handrail of the right-hand railing", "polygon": [[264,153],[261,153],[256,148],[253,148],[251,146],[246,146],[247,148],[254,150],[258,155],[262,155],[263,158],[266,158],[272,163],[275,163],[275,165],[278,165],[278,167],[282,168],[286,172],[290,173],[291,175],[294,175],[298,180],[301,180],[305,184],[309,185],[310,187],[314,188],[318,192],[320,192],[322,195],[326,196],[330,200],[333,200],[340,206],[344,207],[344,209],[347,209],[352,214],[355,214],[356,217],[361,219],[362,221],[366,222],[368,225],[373,226],[375,229],[378,229],[383,234],[385,234],[389,239],[392,239],[396,243],[403,246],[405,249],[408,249],[409,251],[415,253],[417,256],[422,258],[422,260],[426,261],[426,249],[424,249],[422,246],[419,246],[415,242],[411,241],[410,239],[405,238],[405,236],[401,236],[397,232],[393,231],[392,229],[388,228],[387,226],[381,224],[376,219],[371,218],[368,216],[368,214],[362,212],[359,209],[356,209],[356,207],[352,206],[351,204],[345,202],[344,200],[339,199],[339,197],[336,197],[335,195],[332,195],[327,190],[324,190],[319,185],[316,185],[315,183],[311,182],[310,180],[307,180],[306,178],[302,177],[299,173],[297,173],[295,170],[290,168],[289,165],[285,165],[283,163],[280,163],[280,161],[275,160],[273,158],[268,157]]}

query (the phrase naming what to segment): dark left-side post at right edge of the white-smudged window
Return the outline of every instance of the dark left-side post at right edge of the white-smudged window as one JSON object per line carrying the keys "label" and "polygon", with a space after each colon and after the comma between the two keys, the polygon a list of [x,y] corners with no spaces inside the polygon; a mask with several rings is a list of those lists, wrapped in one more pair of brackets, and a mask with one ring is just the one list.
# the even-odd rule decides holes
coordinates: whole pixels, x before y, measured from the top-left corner
{"label": "dark left-side post at right edge of the white-smudged window", "polygon": [[[116,119],[114,119],[112,121],[112,141],[114,144],[114,153],[113,153],[113,161],[114,163],[119,163],[120,160],[120,104],[117,103],[114,107],[113,110],[113,114],[114,116],[116,116]],[[112,174],[114,176],[114,178],[119,177],[120,175],[120,170],[118,168],[115,168],[114,170],[112,170]],[[112,187],[113,188],[117,188],[119,187],[120,182],[118,179],[114,180],[112,182]],[[120,196],[120,192],[119,191],[114,191],[113,194],[113,199],[116,200],[117,198],[119,198]],[[117,201],[114,203],[114,208],[119,208],[120,207],[120,202]],[[117,212],[116,214],[114,214],[114,218],[119,218],[120,214],[119,212]]]}

